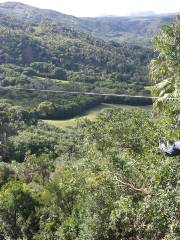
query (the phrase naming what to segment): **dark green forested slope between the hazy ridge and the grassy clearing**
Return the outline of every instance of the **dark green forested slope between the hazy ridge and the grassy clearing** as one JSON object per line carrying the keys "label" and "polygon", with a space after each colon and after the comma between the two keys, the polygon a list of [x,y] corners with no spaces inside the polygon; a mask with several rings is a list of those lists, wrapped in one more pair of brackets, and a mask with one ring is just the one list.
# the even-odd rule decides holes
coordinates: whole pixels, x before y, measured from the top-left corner
{"label": "dark green forested slope between the hazy ridge and the grassy clearing", "polygon": [[[61,29],[51,22],[33,26],[33,31],[7,29],[0,35],[0,40],[3,43],[0,47],[0,83],[3,87],[148,94],[144,86],[149,85],[147,64],[152,56],[149,49],[106,43],[75,30]],[[22,106],[31,99],[29,107],[36,112],[45,98],[52,103],[54,110],[38,113],[48,119],[73,117],[102,102],[135,103],[132,99],[66,97],[62,94],[45,96],[15,90],[1,90],[1,98],[14,99]],[[136,104],[150,104],[150,101],[142,99]]]}

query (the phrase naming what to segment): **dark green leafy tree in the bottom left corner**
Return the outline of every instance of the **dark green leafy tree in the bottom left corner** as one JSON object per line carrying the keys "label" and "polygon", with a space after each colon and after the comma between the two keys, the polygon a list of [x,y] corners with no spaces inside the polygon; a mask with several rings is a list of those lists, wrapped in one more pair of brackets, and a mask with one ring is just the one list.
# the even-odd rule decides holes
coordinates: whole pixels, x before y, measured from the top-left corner
{"label": "dark green leafy tree in the bottom left corner", "polygon": [[34,200],[25,184],[9,182],[0,192],[0,235],[3,239],[32,239],[38,231]]}

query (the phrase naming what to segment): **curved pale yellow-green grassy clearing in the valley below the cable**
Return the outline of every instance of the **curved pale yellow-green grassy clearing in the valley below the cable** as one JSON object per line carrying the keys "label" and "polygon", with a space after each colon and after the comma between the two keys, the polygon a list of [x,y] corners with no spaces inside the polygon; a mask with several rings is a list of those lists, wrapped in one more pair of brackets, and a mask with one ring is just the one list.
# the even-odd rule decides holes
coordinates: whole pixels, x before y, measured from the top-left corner
{"label": "curved pale yellow-green grassy clearing in the valley below the cable", "polygon": [[[103,112],[105,109],[112,109],[112,108],[118,108],[118,107],[123,107],[123,108],[136,108],[133,106],[127,106],[127,105],[118,105],[118,104],[101,104],[98,107],[93,108],[90,111],[87,111],[83,116],[79,116],[76,118],[68,119],[68,120],[44,120],[47,124],[54,125],[56,127],[76,127],[77,123],[81,119],[88,119],[91,121],[95,121],[97,116]],[[146,106],[144,108],[150,108],[150,106]]]}

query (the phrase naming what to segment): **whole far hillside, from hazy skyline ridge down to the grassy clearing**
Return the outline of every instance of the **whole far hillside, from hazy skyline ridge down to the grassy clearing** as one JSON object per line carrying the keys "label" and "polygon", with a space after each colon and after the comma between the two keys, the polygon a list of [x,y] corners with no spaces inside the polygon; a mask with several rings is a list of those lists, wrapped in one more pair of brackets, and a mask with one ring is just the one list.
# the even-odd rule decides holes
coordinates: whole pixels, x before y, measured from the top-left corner
{"label": "whole far hillside, from hazy skyline ridge down to the grassy clearing", "polygon": [[[146,95],[145,86],[150,84],[147,66],[153,50],[131,43],[129,37],[129,41],[121,43],[103,38],[106,39],[110,29],[114,33],[126,29],[130,34],[150,39],[171,18],[90,20],[21,3],[0,4],[1,86]],[[107,32],[101,28],[106,25]],[[96,32],[102,35],[101,39],[92,34]],[[146,99],[47,96],[47,93],[6,90],[1,90],[1,98],[24,107],[31,99],[28,109],[40,117],[53,119],[81,114],[101,102],[151,103]]]}

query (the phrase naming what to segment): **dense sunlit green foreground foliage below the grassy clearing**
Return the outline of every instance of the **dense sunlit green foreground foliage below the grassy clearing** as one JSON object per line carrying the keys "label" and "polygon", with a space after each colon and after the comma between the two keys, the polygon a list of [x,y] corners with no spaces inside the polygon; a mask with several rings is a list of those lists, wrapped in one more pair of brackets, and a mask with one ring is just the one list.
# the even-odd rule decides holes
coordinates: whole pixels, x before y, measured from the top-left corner
{"label": "dense sunlit green foreground foliage below the grassy clearing", "polygon": [[62,130],[4,115],[2,239],[178,239],[179,158],[157,144],[179,137],[170,118],[119,108]]}

